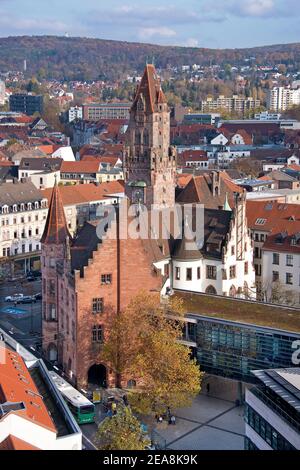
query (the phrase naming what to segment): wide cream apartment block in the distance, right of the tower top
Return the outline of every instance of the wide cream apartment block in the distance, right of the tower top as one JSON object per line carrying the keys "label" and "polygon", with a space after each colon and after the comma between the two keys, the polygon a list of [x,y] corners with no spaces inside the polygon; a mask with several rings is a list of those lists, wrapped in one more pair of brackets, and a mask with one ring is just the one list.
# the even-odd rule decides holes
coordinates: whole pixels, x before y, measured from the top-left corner
{"label": "wide cream apartment block in the distance, right of the tower top", "polygon": [[208,96],[206,100],[201,103],[202,112],[213,112],[220,109],[224,109],[228,112],[235,111],[243,114],[246,111],[257,109],[260,107],[260,100],[254,99],[253,97],[244,97],[233,95],[231,97],[225,97],[220,95],[217,99]]}

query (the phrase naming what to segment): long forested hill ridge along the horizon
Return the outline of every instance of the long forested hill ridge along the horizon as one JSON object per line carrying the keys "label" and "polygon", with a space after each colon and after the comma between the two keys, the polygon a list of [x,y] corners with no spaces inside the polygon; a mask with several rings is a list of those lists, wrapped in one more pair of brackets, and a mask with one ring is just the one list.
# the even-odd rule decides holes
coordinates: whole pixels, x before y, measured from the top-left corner
{"label": "long forested hill ridge along the horizon", "polygon": [[40,69],[47,78],[95,79],[122,77],[140,72],[146,60],[154,58],[157,67],[181,65],[292,64],[300,69],[300,43],[251,49],[204,49],[108,41],[103,39],[56,36],[17,36],[0,38],[0,72],[22,70],[27,60],[28,73]]}

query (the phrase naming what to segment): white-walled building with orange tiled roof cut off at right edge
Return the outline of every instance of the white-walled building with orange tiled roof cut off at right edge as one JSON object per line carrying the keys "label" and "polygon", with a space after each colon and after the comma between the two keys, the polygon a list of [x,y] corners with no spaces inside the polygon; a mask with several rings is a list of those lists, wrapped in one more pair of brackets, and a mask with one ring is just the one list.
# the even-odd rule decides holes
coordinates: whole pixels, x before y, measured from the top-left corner
{"label": "white-walled building with orange tiled roof cut off at right edge", "polygon": [[261,298],[300,303],[300,205],[247,201],[254,266]]}

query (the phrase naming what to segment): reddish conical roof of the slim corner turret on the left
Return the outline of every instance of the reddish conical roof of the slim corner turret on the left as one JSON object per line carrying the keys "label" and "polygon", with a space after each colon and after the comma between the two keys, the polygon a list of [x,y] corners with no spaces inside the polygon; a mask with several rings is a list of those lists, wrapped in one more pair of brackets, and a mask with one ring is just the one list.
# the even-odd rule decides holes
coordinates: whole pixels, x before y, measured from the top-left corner
{"label": "reddish conical roof of the slim corner turret on the left", "polygon": [[66,243],[67,238],[70,238],[70,233],[66,223],[59,187],[55,179],[41,243],[46,245],[60,245]]}

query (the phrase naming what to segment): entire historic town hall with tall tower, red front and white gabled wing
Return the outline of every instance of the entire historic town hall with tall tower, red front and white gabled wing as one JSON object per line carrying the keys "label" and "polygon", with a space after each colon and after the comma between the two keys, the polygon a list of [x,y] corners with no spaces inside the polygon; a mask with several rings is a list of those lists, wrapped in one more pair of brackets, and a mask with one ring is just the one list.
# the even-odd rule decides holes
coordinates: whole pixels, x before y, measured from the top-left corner
{"label": "entire historic town hall with tall tower, red front and white gabled wing", "polygon": [[[128,204],[160,211],[175,205],[170,112],[153,65],[146,66],[131,109],[124,166]],[[146,214],[143,221],[148,219]],[[99,223],[86,222],[72,239],[55,185],[41,240],[43,352],[78,387],[115,385],[113,371],[101,358],[103,341],[111,317],[140,289],[250,295],[253,251],[243,196],[236,195],[233,210],[224,204],[205,211],[204,245],[192,251],[174,230],[162,240],[161,225],[157,236],[152,226],[148,237],[120,236],[120,206],[101,235]]]}

